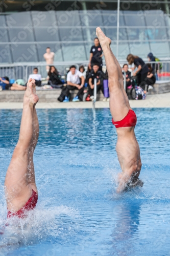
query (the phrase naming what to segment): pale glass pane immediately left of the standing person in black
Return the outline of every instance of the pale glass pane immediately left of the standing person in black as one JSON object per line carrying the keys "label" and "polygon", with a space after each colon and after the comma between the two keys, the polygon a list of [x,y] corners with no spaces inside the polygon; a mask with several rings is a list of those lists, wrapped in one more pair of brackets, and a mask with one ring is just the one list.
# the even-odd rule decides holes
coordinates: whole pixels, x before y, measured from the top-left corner
{"label": "pale glass pane immediately left of the standing person in black", "polygon": [[83,44],[62,44],[62,50],[64,54],[64,61],[86,60]]}

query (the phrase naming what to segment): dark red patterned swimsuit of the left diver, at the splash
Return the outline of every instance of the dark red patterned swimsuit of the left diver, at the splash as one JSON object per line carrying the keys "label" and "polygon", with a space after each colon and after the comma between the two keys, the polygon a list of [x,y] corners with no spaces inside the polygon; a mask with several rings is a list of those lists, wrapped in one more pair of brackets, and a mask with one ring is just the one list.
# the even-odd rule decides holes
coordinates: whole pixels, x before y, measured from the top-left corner
{"label": "dark red patterned swimsuit of the left diver, at the splash", "polygon": [[18,210],[16,212],[11,212],[11,211],[8,210],[7,218],[9,219],[9,218],[14,217],[14,216],[17,216],[18,218],[25,218],[27,216],[26,211],[27,210],[33,210],[35,208],[36,204],[37,204],[37,201],[38,201],[38,195],[33,190],[32,191],[32,196],[30,197],[28,202],[25,204],[25,206],[23,206],[20,210]]}

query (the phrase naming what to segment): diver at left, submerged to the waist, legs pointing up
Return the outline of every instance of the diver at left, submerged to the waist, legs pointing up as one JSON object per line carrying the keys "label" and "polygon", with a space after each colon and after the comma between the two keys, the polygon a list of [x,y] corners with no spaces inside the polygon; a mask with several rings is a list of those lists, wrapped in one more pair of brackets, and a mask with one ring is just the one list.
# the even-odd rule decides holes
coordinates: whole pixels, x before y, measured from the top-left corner
{"label": "diver at left, submerged to the waist, legs pointing up", "polygon": [[38,191],[35,183],[33,154],[39,135],[35,105],[38,102],[35,80],[30,78],[23,97],[19,139],[5,179],[8,218],[24,218],[27,210],[35,208]]}

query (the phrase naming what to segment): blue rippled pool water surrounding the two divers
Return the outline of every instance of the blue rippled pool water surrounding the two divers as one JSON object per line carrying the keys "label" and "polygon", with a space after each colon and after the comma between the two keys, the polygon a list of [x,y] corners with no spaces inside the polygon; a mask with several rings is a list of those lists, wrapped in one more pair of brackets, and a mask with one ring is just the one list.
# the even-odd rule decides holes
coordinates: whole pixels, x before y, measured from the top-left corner
{"label": "blue rippled pool water surrounding the two divers", "polygon": [[[144,185],[121,195],[115,193],[120,167],[109,109],[37,111],[39,201],[33,216],[0,236],[0,255],[170,255],[170,109],[135,111]],[[0,111],[1,226],[20,119],[20,110]]]}

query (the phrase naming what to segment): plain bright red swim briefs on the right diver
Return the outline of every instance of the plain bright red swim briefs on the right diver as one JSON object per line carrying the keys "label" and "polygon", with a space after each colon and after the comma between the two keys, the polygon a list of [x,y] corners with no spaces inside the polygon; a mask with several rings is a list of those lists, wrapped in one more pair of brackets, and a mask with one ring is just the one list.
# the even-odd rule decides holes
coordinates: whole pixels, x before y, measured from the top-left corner
{"label": "plain bright red swim briefs on the right diver", "polygon": [[133,110],[129,110],[126,117],[124,117],[124,119],[122,119],[120,121],[114,122],[114,120],[112,118],[112,123],[115,125],[116,128],[135,126],[136,122],[137,122],[137,117]]}

